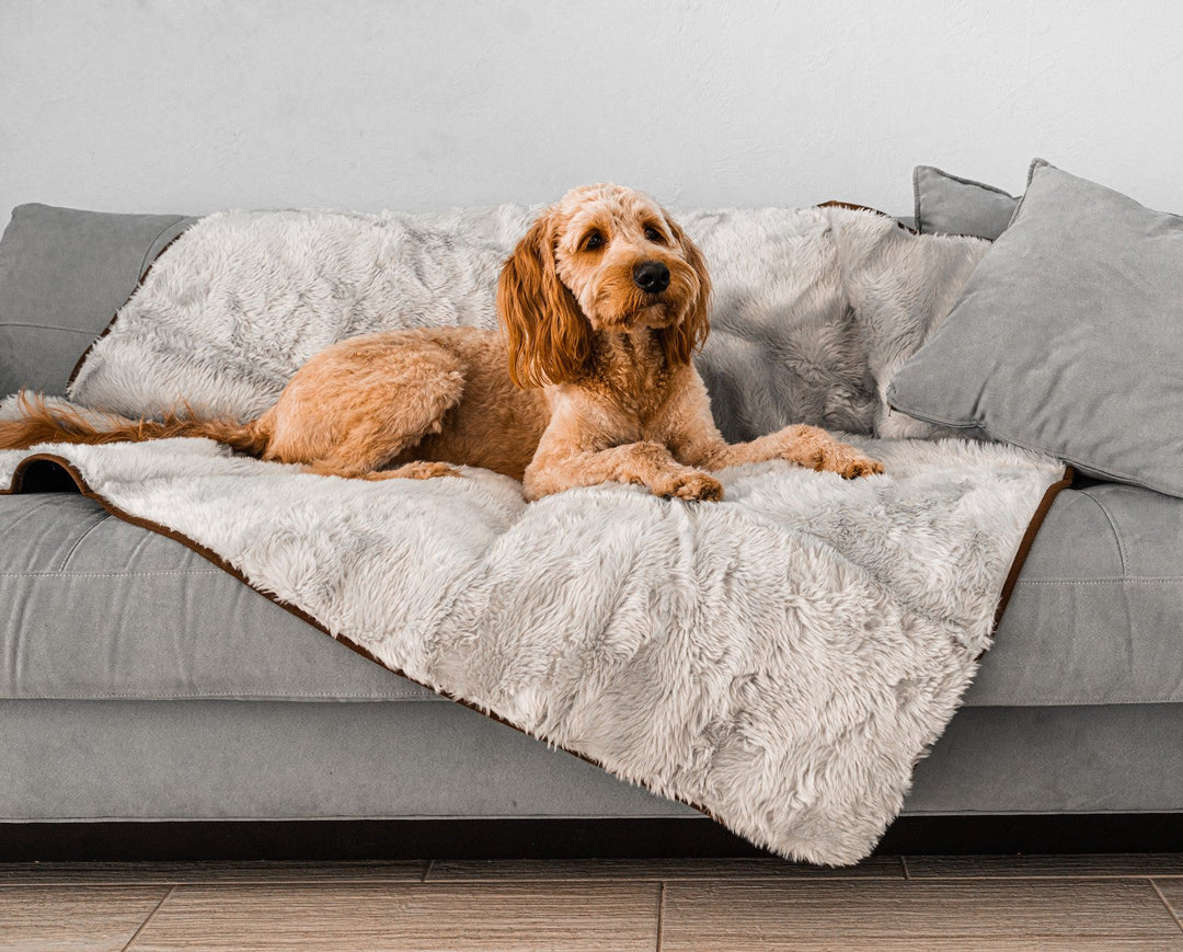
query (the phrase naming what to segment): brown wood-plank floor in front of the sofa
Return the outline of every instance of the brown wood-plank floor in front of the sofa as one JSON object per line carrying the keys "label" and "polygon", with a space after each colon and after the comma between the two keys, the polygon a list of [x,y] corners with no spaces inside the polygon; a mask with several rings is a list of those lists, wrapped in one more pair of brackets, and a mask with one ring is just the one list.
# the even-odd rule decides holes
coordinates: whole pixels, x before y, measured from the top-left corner
{"label": "brown wood-plank floor in front of the sofa", "polygon": [[1183,854],[0,864],[0,948],[1183,948]]}

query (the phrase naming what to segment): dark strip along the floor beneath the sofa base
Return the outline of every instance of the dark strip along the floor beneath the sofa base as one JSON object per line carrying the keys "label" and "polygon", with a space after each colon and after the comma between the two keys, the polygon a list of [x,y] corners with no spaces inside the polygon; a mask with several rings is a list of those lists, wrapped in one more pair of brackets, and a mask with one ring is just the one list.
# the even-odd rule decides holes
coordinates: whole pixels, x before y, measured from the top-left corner
{"label": "dark strip along the floor beneath the sofa base", "polygon": [[[901,817],[875,853],[1181,853],[1183,815]],[[768,856],[709,820],[0,823],[0,862]]]}

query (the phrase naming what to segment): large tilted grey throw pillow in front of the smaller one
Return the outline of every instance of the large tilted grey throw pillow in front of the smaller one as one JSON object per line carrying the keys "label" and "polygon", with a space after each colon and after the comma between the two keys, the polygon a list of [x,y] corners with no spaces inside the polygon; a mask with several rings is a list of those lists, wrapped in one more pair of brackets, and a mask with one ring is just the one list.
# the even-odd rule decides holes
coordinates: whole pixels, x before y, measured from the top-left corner
{"label": "large tilted grey throw pillow in front of the smaller one", "polygon": [[894,408],[1183,496],[1183,219],[1036,160]]}

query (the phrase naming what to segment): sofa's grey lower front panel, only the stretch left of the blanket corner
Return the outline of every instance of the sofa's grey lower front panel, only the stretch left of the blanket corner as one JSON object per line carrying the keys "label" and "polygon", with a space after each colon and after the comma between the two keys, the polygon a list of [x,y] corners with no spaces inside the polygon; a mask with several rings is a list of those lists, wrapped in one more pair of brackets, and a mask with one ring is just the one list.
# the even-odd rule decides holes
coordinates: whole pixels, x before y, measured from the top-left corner
{"label": "sofa's grey lower front panel, only the stretch left of the blanket corner", "polygon": [[8,700],[0,763],[0,822],[697,812],[447,702]]}

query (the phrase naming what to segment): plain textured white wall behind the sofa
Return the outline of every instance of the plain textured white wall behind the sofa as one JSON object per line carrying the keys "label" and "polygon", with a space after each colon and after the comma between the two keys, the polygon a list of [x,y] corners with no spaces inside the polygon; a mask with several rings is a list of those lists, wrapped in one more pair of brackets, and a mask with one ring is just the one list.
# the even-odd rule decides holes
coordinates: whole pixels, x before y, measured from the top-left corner
{"label": "plain textured white wall behind the sofa", "polygon": [[0,220],[438,208],[590,180],[911,208],[1028,161],[1183,211],[1183,4],[0,0]]}

